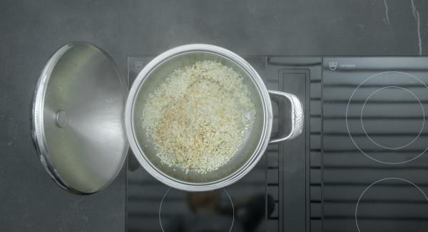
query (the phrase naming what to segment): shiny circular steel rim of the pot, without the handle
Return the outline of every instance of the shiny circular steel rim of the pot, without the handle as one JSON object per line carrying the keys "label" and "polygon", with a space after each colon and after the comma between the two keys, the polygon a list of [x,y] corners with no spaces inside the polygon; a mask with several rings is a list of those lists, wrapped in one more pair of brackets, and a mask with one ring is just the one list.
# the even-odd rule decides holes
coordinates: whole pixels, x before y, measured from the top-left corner
{"label": "shiny circular steel rim of the pot, without the handle", "polygon": [[[192,183],[188,181],[182,181],[177,178],[173,178],[166,173],[163,173],[159,168],[153,165],[151,161],[148,160],[143,149],[138,144],[136,139],[136,132],[134,125],[134,109],[136,104],[136,96],[143,86],[144,82],[159,65],[163,62],[168,61],[169,59],[186,53],[192,52],[206,52],[215,54],[218,56],[223,56],[230,61],[233,61],[235,64],[240,66],[247,74],[253,79],[255,86],[257,87],[259,94],[261,96],[263,104],[263,131],[260,137],[259,143],[250,159],[245,162],[243,166],[238,168],[230,175],[220,178],[215,181],[210,181],[206,183]],[[143,168],[148,171],[154,178],[162,183],[165,183],[167,186],[178,188],[183,191],[211,191],[218,188],[223,188],[228,186],[236,181],[243,178],[248,172],[250,172],[254,166],[260,161],[260,158],[263,156],[269,143],[270,133],[272,131],[272,104],[270,101],[270,96],[267,92],[266,86],[260,78],[259,74],[253,66],[251,66],[245,59],[238,54],[229,51],[228,49],[223,49],[220,46],[214,46],[210,44],[187,44],[183,46],[178,46],[168,51],[163,52],[162,54],[156,56],[151,62],[149,62],[138,74],[136,80],[131,86],[129,91],[128,99],[126,100],[126,109],[125,109],[125,129],[126,136],[128,138],[128,143],[131,146],[134,156],[137,158],[138,162],[143,166]]]}

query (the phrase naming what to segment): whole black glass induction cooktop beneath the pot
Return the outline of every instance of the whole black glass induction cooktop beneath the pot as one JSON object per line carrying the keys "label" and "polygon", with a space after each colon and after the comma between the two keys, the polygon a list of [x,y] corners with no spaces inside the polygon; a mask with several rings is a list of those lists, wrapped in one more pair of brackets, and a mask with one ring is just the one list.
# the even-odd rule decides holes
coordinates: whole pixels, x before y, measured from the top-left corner
{"label": "whole black glass induction cooktop beneath the pot", "polygon": [[[130,83],[151,59],[128,57]],[[428,231],[428,58],[245,59],[267,89],[300,98],[302,135],[205,193],[168,188],[128,156],[127,231]],[[275,137],[289,108],[272,100]]]}

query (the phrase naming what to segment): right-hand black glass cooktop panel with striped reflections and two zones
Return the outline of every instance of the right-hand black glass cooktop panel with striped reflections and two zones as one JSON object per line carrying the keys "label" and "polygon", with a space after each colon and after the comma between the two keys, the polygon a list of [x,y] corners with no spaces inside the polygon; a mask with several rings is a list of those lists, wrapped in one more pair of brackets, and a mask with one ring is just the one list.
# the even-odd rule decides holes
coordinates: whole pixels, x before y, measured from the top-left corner
{"label": "right-hand black glass cooktop panel with striped reflections and two zones", "polygon": [[325,58],[322,70],[322,231],[427,231],[428,59]]}

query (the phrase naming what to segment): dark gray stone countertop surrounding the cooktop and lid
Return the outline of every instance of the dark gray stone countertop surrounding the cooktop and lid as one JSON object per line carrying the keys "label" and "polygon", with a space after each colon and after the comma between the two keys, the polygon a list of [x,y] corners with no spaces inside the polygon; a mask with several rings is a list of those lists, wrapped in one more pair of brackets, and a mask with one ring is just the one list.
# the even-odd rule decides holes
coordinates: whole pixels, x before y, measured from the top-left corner
{"label": "dark gray stone countertop surrounding the cooktop and lid", "polygon": [[73,196],[47,176],[29,112],[44,63],[90,41],[128,54],[209,43],[242,55],[428,54],[428,1],[0,1],[0,231],[124,231],[125,173]]}

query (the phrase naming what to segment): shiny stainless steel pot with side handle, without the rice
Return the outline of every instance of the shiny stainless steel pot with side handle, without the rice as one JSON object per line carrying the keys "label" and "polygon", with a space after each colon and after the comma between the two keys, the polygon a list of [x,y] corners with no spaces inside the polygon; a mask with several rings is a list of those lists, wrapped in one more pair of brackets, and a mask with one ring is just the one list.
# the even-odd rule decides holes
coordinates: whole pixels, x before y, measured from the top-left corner
{"label": "shiny stainless steel pot with side handle, without the rice", "polygon": [[[168,167],[161,163],[156,156],[154,144],[148,142],[146,138],[146,131],[141,126],[141,115],[148,93],[153,93],[169,74],[175,69],[191,66],[195,61],[203,60],[219,61],[243,76],[244,84],[250,90],[251,101],[255,104],[255,123],[245,136],[238,153],[224,166],[209,173],[195,171],[185,173],[180,168]],[[292,130],[287,136],[271,141],[272,105],[269,94],[285,97],[292,106],[290,109]],[[302,133],[303,114],[302,104],[296,96],[279,91],[267,91],[258,73],[242,57],[219,46],[189,44],[165,51],[138,74],[126,101],[125,123],[126,136],[134,155],[152,176],[173,188],[185,191],[209,191],[228,186],[245,176],[263,156],[268,143],[285,141]]]}

